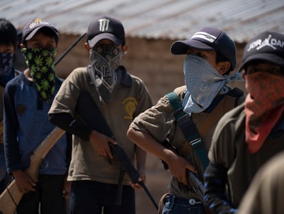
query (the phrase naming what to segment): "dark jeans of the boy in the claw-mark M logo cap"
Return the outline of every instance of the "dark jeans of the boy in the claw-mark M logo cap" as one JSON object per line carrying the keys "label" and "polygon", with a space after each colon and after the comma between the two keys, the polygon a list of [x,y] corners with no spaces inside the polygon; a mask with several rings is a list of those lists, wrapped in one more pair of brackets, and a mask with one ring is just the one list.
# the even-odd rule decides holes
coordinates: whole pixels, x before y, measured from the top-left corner
{"label": "dark jeans of the boy in the claw-mark M logo cap", "polygon": [[121,204],[116,204],[117,185],[80,180],[72,182],[71,214],[135,214],[135,193],[123,186]]}

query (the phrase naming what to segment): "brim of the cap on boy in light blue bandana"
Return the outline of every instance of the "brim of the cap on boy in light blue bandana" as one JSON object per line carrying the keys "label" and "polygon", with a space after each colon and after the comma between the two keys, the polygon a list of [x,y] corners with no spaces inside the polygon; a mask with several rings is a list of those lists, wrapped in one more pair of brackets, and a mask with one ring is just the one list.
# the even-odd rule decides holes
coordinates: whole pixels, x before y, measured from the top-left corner
{"label": "brim of the cap on boy in light blue bandana", "polygon": [[172,54],[187,54],[189,47],[200,50],[215,50],[213,47],[196,40],[176,41],[171,45]]}

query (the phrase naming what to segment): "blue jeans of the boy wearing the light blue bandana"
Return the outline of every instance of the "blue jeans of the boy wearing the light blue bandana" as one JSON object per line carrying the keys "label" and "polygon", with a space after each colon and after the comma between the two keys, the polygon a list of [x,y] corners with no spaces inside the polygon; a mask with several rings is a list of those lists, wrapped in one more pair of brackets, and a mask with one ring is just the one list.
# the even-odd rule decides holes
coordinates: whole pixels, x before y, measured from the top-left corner
{"label": "blue jeans of the boy wearing the light blue bandana", "polygon": [[165,201],[162,214],[206,214],[205,208],[198,199],[189,199],[185,197],[176,197],[169,195]]}

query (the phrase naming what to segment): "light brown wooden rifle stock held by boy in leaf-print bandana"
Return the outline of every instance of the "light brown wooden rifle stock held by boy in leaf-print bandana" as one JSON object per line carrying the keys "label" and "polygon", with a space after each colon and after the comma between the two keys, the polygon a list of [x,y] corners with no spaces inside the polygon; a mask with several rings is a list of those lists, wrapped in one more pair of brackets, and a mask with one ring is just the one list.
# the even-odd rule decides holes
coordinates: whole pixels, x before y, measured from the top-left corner
{"label": "light brown wooden rifle stock held by boy in leaf-print bandana", "polygon": [[[34,153],[30,157],[29,168],[26,170],[27,175],[34,181],[38,181],[38,169],[43,158],[45,158],[49,150],[56,144],[64,132],[64,130],[58,127],[54,128],[45,140],[43,140],[43,142],[41,142],[34,150]],[[16,206],[19,204],[22,197],[23,192],[19,190],[15,180],[13,180],[0,195],[0,213],[14,214]]]}

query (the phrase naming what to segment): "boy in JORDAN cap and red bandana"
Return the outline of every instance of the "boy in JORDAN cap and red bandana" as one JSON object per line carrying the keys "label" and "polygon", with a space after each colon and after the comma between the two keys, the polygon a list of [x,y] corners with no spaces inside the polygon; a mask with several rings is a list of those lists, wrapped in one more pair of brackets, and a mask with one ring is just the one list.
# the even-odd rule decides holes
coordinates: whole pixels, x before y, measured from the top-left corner
{"label": "boy in JORDAN cap and red bandana", "polygon": [[284,34],[263,32],[244,49],[239,71],[248,95],[217,125],[204,173],[213,213],[236,213],[260,167],[284,150],[283,44]]}

